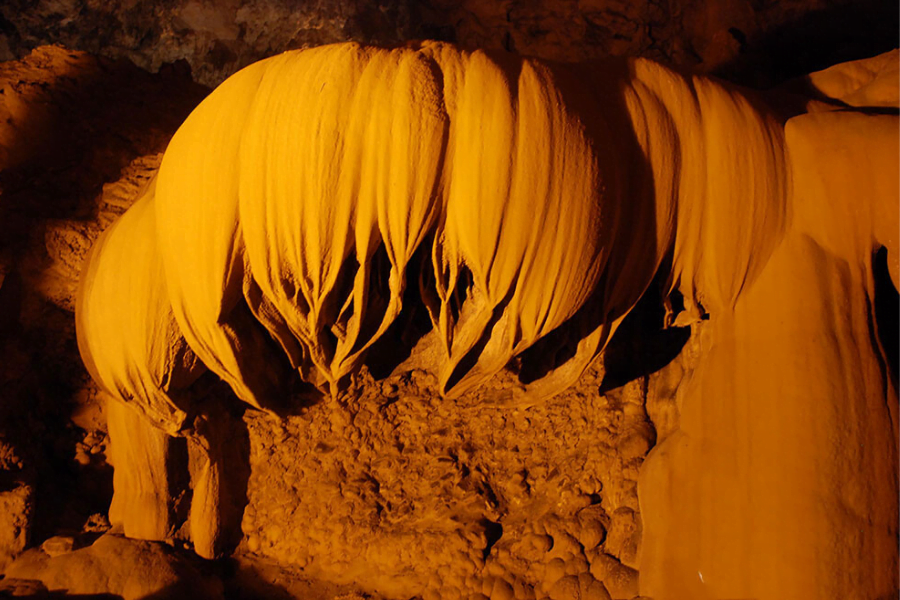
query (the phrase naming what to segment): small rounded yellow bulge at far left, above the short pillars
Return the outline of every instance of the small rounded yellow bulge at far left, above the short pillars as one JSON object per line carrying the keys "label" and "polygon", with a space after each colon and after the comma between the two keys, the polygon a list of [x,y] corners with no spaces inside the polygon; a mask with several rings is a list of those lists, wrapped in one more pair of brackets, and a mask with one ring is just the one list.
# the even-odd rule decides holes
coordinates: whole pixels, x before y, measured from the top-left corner
{"label": "small rounded yellow bulge at far left, above the short pillars", "polygon": [[78,290],[76,326],[91,376],[175,434],[187,417],[178,394],[205,368],[172,313],[157,250],[155,187],[151,182],[94,243]]}

